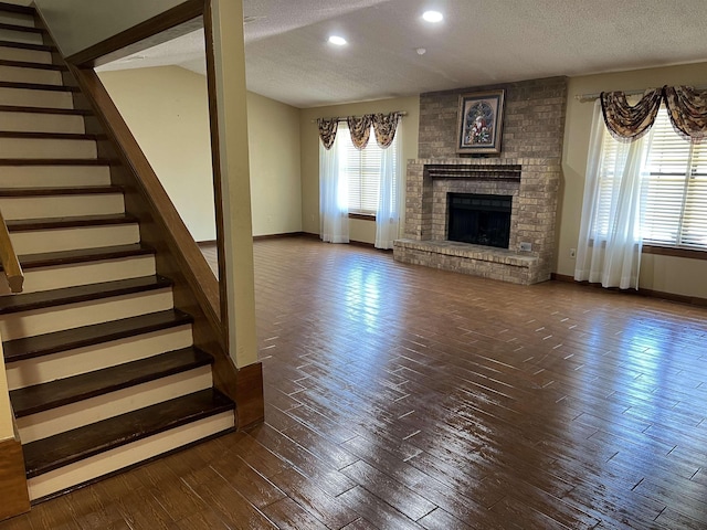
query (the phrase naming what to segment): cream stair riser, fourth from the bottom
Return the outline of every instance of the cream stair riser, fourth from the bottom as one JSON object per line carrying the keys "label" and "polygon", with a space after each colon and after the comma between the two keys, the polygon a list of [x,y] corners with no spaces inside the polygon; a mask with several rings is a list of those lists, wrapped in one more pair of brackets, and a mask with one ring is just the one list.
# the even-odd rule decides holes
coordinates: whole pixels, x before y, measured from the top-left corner
{"label": "cream stair riser, fourth from the bottom", "polygon": [[137,317],[173,307],[171,289],[114,296],[101,300],[68,304],[32,311],[0,316],[2,340],[34,337],[62,329]]}

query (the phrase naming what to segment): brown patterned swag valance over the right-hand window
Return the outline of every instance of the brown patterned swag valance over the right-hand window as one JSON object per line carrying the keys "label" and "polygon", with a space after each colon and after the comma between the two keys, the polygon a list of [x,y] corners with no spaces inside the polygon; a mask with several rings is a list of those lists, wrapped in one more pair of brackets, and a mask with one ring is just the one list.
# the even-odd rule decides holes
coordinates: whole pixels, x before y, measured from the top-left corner
{"label": "brown patterned swag valance over the right-hand window", "polygon": [[602,92],[601,108],[611,135],[633,141],[645,135],[665,102],[675,131],[689,141],[707,137],[707,92],[692,86],[664,86],[646,91],[641,100],[629,105],[623,92]]}

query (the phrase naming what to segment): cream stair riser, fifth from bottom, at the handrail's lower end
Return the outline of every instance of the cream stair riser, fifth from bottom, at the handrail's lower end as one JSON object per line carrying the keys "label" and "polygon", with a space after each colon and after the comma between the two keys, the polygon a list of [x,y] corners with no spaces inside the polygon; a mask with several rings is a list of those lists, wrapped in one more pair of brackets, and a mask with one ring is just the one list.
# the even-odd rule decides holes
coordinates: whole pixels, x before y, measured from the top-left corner
{"label": "cream stair riser, fifth from bottom, at the handrail's lower end", "polygon": [[[139,278],[154,274],[155,257],[151,255],[30,268],[24,269],[22,293]],[[0,295],[10,295],[4,275],[0,277]]]}

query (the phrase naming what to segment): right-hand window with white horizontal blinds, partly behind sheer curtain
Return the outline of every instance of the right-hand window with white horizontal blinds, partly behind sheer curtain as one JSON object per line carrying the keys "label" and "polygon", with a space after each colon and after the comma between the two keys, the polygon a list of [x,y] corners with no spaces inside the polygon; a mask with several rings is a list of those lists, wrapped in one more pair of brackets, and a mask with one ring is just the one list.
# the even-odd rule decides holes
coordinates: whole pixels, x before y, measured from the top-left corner
{"label": "right-hand window with white horizontal blinds, partly behind sheer curtain", "polygon": [[[675,132],[665,107],[648,132],[641,156],[643,208],[637,230],[645,244],[707,250],[707,142],[690,144]],[[593,233],[609,233],[618,208],[614,168],[631,144],[604,132],[599,201]],[[637,235],[637,234],[636,234]]]}

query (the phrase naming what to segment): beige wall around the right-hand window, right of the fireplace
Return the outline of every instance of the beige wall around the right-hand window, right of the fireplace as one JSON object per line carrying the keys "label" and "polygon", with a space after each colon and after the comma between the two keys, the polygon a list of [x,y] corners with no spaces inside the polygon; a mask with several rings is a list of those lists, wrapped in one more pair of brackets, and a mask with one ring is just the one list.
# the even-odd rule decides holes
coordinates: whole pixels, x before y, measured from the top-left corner
{"label": "beige wall around the right-hand window, right of the fireplace", "polygon": [[[570,78],[562,155],[564,181],[558,210],[558,274],[574,275],[574,259],[570,258],[569,254],[570,248],[577,247],[579,237],[592,118],[593,103],[580,103],[574,96],[663,85],[705,85],[706,82],[707,63]],[[703,279],[705,263],[698,259],[644,254],[640,285],[645,289],[707,298],[707,282]]]}

